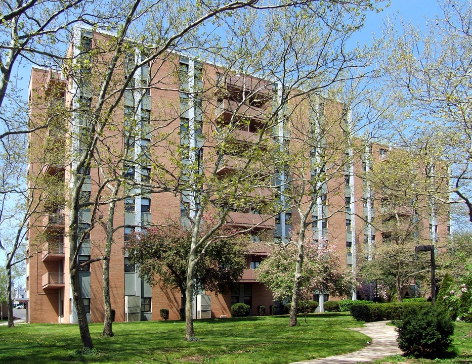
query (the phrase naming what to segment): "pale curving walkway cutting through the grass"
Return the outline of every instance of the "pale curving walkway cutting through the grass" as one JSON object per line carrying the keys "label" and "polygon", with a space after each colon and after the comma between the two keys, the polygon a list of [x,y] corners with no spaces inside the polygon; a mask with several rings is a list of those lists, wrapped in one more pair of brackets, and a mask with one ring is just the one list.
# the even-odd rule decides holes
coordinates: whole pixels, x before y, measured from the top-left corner
{"label": "pale curving walkway cutting through the grass", "polygon": [[365,348],[348,354],[330,356],[322,359],[297,361],[290,364],[357,364],[369,362],[385,356],[401,354],[398,348],[397,332],[394,326],[388,326],[388,321],[367,323],[361,328],[352,328],[369,336],[372,340]]}

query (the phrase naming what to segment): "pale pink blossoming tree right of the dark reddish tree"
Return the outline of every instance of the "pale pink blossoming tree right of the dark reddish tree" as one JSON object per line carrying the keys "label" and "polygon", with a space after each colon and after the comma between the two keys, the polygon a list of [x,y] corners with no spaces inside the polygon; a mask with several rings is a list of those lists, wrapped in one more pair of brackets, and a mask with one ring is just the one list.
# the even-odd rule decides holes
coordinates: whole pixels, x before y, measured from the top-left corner
{"label": "pale pink blossoming tree right of the dark reddish tree", "polygon": [[[291,234],[286,245],[279,245],[272,254],[261,262],[258,281],[273,293],[274,300],[290,298],[293,292],[293,276],[296,266],[298,236]],[[340,269],[339,256],[326,240],[319,243],[305,242],[304,266],[300,280],[299,299],[308,301],[313,292],[324,291],[335,295],[350,294],[356,287],[352,270]]]}

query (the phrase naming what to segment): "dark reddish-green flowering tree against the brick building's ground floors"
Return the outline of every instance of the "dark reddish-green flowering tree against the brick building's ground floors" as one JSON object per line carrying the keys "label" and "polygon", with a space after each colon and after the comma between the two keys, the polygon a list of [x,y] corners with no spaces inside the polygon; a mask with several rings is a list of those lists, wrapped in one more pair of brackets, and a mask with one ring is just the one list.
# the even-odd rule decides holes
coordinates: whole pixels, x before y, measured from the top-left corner
{"label": "dark reddish-green flowering tree against the brick building's ground floors", "polygon": [[[211,220],[205,216],[205,220]],[[199,231],[200,238],[207,233],[205,223]],[[236,235],[237,231],[229,224],[223,224],[217,232],[217,239],[204,252],[195,268],[198,287],[212,292],[224,293],[233,282],[237,282],[246,265],[245,235]],[[179,289],[185,302],[187,289],[187,266],[190,254],[192,231],[178,221],[167,219],[159,226],[153,226],[141,233],[134,233],[126,241],[124,250],[128,259],[139,270],[140,277],[155,285],[162,283],[170,289]]]}

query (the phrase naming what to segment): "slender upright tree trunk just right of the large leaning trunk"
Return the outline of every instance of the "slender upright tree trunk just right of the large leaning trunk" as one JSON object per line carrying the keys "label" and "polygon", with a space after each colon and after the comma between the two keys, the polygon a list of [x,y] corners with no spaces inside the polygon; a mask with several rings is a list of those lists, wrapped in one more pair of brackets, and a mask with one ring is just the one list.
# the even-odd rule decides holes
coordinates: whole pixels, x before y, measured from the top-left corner
{"label": "slender upright tree trunk just right of the large leaning trunk", "polygon": [[[113,196],[116,195],[116,191],[119,189],[119,183],[113,190]],[[103,333],[102,336],[113,336],[112,330],[112,315],[111,315],[111,299],[110,299],[110,256],[111,247],[113,245],[113,218],[115,215],[115,201],[110,202],[108,206],[108,218],[107,218],[107,241],[105,244],[105,259],[103,261],[103,305],[105,311],[105,320],[103,321]]]}

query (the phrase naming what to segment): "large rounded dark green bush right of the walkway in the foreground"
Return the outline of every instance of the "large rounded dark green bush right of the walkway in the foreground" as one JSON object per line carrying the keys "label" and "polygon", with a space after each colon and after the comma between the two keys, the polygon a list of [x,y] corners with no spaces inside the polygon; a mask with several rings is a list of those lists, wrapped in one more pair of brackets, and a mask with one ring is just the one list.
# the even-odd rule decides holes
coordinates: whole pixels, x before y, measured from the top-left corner
{"label": "large rounded dark green bush right of the walkway in the foreground", "polygon": [[454,323],[440,305],[409,307],[398,328],[398,346],[408,355],[437,357],[451,345]]}

